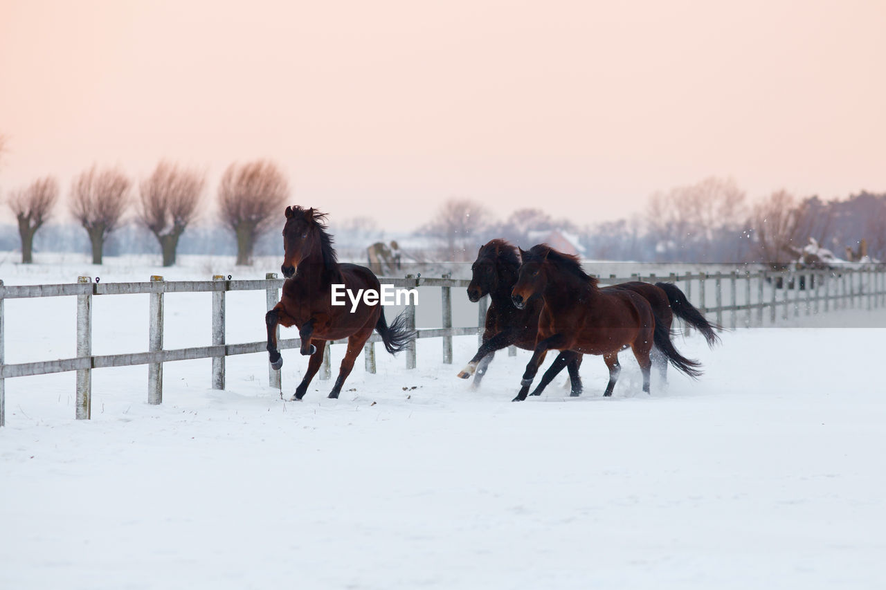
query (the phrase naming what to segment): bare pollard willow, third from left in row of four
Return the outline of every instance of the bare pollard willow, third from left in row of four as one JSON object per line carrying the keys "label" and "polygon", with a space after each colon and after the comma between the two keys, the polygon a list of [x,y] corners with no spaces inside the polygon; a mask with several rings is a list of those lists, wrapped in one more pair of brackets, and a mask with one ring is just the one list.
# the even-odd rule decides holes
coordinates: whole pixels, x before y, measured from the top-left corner
{"label": "bare pollard willow, third from left in row of four", "polygon": [[197,216],[206,176],[160,162],[139,185],[138,218],[163,251],[163,266],[175,264],[178,238]]}

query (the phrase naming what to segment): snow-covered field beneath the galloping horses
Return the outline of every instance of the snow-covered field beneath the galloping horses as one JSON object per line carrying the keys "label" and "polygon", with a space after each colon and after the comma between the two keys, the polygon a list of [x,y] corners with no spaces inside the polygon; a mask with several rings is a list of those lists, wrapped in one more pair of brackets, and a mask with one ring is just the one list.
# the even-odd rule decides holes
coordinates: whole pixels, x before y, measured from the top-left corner
{"label": "snow-covered field beneath the galloping horses", "polygon": [[[159,271],[82,266],[0,278]],[[167,346],[208,344],[200,298],[167,296]],[[261,339],[264,294],[229,298],[229,342]],[[95,353],[145,350],[146,316],[147,296],[96,298]],[[886,330],[860,327],[886,314],[792,322],[817,327],[737,330],[712,351],[678,338],[705,375],[654,378],[651,396],[623,354],[611,399],[588,357],[583,397],[557,381],[511,403],[522,351],[472,391],[455,373],[473,337],[454,365],[421,341],[413,371],[379,348],[340,400],[315,380],[284,402],[264,354],[229,358],[224,392],[210,361],[167,363],[161,406],[144,367],[97,369],[82,422],[73,374],[7,379],[0,588],[886,586]],[[6,302],[8,362],[73,356],[73,334],[71,298]],[[284,360],[291,393],[306,361]]]}

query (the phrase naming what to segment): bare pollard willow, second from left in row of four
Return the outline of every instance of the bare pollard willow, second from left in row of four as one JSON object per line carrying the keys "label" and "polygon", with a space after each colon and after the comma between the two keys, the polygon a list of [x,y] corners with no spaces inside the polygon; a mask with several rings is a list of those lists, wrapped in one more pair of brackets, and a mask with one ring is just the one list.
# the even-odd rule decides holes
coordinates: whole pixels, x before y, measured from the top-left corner
{"label": "bare pollard willow, second from left in row of four", "polygon": [[71,213],[92,243],[92,263],[102,263],[105,240],[120,227],[132,182],[120,170],[89,168],[71,183]]}

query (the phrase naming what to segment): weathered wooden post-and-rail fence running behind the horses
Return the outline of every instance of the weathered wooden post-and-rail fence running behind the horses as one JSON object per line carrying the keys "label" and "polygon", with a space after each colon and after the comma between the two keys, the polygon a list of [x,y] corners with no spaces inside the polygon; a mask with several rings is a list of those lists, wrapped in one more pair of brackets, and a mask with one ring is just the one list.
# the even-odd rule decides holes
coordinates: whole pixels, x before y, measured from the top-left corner
{"label": "weathered wooden post-and-rail fence running behind the horses", "polygon": [[[480,300],[478,325],[468,328],[452,326],[452,294],[455,288],[465,288],[470,281],[449,277],[425,278],[406,276],[405,278],[380,277],[384,283],[396,287],[439,287],[441,289],[441,328],[416,330],[416,338],[442,338],[442,361],[451,364],[452,338],[482,333],[486,318],[487,299]],[[600,277],[603,284],[625,283],[627,281],[656,283],[667,281],[680,286],[693,305],[703,314],[714,315],[720,325],[735,328],[774,325],[778,318],[788,319],[791,315],[827,312],[838,308],[882,307],[886,305],[886,270],[876,268],[847,268],[839,270],[784,270],[779,272],[732,272],[706,274],[687,273],[669,276],[609,276]],[[265,280],[231,280],[229,276],[214,276],[212,281],[163,281],[160,276],[152,276],[146,283],[94,283],[91,278],[82,276],[78,283],[4,286],[0,281],[0,426],[4,425],[4,393],[7,377],[46,375],[66,371],[76,371],[77,419],[88,419],[91,411],[91,370],[105,367],[125,367],[148,365],[148,403],[159,404],[163,400],[163,363],[190,359],[211,358],[212,384],[214,389],[224,389],[225,358],[235,354],[267,353],[265,340],[228,344],[225,342],[225,293],[228,291],[266,291],[268,309],[279,300],[279,289],[284,281],[271,274]],[[195,346],[167,350],[163,347],[163,300],[167,293],[211,292],[212,345]],[[781,292],[781,296],[779,293]],[[92,299],[97,296],[148,293],[149,307],[149,350],[145,353],[92,354]],[[4,362],[4,300],[33,299],[43,297],[77,298],[77,348],[76,356],[56,361],[37,361],[19,364]],[[713,305],[711,303],[713,298]],[[726,302],[724,302],[726,299]],[[416,309],[407,307],[410,327],[415,328]],[[781,314],[779,313],[781,311]],[[724,319],[728,314],[728,322]],[[279,328],[277,329],[279,330]],[[298,348],[299,338],[279,338],[278,348]],[[18,338],[18,337],[17,337]],[[479,339],[479,336],[478,336]],[[374,373],[375,343],[381,338],[373,334],[364,349],[366,370]],[[341,342],[346,342],[342,340]],[[330,347],[326,348],[320,379],[330,378]],[[510,353],[516,353],[511,347]],[[406,353],[408,369],[416,367],[415,345]],[[279,388],[280,373],[268,364],[268,383]]]}

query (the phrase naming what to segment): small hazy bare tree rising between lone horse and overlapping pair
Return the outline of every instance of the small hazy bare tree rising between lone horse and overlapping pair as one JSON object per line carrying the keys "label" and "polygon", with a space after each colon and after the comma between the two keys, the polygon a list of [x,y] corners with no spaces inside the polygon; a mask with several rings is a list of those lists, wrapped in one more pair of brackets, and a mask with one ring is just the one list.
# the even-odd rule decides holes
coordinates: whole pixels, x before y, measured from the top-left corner
{"label": "small hazy bare tree rising between lone horse and overlapping pair", "polygon": [[439,207],[434,220],[422,231],[445,244],[446,260],[469,260],[480,245],[480,232],[486,228],[489,213],[467,198],[450,198]]}

